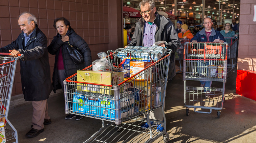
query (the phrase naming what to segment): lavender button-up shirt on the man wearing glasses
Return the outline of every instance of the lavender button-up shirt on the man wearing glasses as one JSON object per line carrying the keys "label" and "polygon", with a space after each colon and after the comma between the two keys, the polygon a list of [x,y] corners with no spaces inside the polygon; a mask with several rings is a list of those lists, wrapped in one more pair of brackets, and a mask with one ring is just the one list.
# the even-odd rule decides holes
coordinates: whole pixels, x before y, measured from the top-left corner
{"label": "lavender button-up shirt on the man wearing glasses", "polygon": [[157,30],[157,25],[155,23],[151,25],[146,22],[144,26],[145,29],[143,33],[143,45],[145,47],[150,47],[155,43],[155,33]]}

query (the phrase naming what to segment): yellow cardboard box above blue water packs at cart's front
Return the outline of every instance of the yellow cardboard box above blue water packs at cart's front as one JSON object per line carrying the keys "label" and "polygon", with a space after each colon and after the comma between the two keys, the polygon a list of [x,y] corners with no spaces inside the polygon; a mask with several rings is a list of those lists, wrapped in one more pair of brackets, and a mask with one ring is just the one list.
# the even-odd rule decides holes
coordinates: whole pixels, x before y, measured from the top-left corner
{"label": "yellow cardboard box above blue water packs at cart's front", "polygon": [[[112,71],[77,71],[77,81],[102,84],[102,85],[118,85],[123,82],[123,72]],[[113,94],[114,90],[110,90],[111,87],[100,85],[89,85],[77,83],[77,90],[86,92],[96,92],[102,94]],[[120,90],[122,92],[122,90]]]}

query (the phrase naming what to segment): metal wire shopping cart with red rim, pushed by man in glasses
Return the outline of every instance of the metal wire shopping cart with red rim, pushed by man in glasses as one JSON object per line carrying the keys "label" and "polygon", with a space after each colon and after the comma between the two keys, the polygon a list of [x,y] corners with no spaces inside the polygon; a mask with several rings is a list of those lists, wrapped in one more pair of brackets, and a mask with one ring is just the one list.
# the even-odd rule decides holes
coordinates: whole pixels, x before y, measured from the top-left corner
{"label": "metal wire shopping cart with red rim, pushed by man in glasses", "polygon": [[[121,56],[123,53],[120,51],[108,51],[108,54],[112,65],[119,65],[124,60],[133,60],[136,52],[126,53],[126,58]],[[138,61],[153,58],[151,65],[118,85],[77,82],[77,76],[80,76],[77,74],[64,80],[66,114],[102,120],[102,128],[85,142],[153,142],[160,136],[168,142],[163,102],[170,55],[157,61],[156,55],[143,52],[139,55],[140,58],[136,58]],[[84,70],[92,71],[92,65]],[[164,121],[149,119],[149,114],[146,119],[138,117],[157,108],[162,109]],[[105,121],[109,123],[105,124]],[[164,126],[164,130],[159,132],[157,126],[151,124],[149,128],[142,129],[141,125],[145,122]]]}

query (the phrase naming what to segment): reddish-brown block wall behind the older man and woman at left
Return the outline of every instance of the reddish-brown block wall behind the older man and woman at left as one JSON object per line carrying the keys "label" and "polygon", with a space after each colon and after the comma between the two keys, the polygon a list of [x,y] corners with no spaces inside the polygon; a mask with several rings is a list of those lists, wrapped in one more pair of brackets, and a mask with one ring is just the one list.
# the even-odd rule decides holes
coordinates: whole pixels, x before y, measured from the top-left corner
{"label": "reddish-brown block wall behind the older man and woman at left", "polygon": [[[54,19],[65,17],[89,44],[93,60],[98,59],[98,52],[122,47],[120,0],[0,0],[1,47],[16,40],[21,33],[18,16],[23,11],[36,16],[39,28],[48,38],[48,45],[57,34],[53,27]],[[49,62],[53,72],[53,55],[49,54]],[[19,62],[12,90],[12,95],[17,94],[22,94]]]}

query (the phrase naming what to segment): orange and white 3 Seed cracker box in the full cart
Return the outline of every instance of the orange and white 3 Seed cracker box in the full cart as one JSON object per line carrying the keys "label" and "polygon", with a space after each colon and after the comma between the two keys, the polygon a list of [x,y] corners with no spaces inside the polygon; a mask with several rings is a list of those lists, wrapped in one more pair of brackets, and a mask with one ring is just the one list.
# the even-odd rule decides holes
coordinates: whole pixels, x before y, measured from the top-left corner
{"label": "orange and white 3 Seed cracker box in the full cart", "polygon": [[[140,72],[144,68],[148,67],[151,65],[152,62],[139,62],[139,61],[131,61],[130,62],[130,77],[133,76],[134,74]],[[139,73],[135,78],[136,80],[142,80],[142,81],[147,81],[150,80],[152,70],[145,70]]]}

